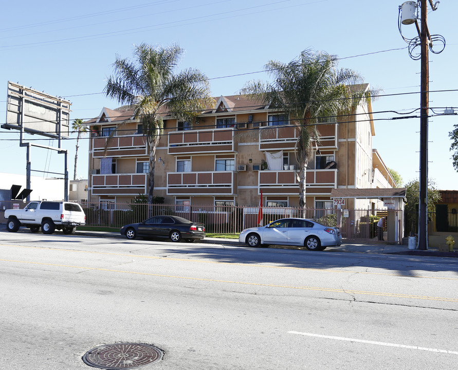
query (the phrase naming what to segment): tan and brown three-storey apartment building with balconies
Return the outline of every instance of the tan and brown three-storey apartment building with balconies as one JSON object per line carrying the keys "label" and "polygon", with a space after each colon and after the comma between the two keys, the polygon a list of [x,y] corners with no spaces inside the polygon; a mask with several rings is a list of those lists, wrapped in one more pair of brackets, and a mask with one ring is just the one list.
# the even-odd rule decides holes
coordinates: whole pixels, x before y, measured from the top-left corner
{"label": "tan and brown three-storey apartment building with balconies", "polygon": [[[154,195],[167,204],[257,206],[262,191],[265,206],[298,206],[294,123],[247,96],[221,96],[215,103],[194,122],[163,115]],[[148,194],[149,153],[132,114],[130,106],[103,108],[97,118],[85,122],[91,132],[91,202],[130,202]],[[306,171],[307,208],[333,208],[330,194],[335,188],[395,185],[372,148],[370,103],[350,116],[320,122],[318,131],[321,141]],[[368,209],[377,201],[355,198],[346,207]]]}

